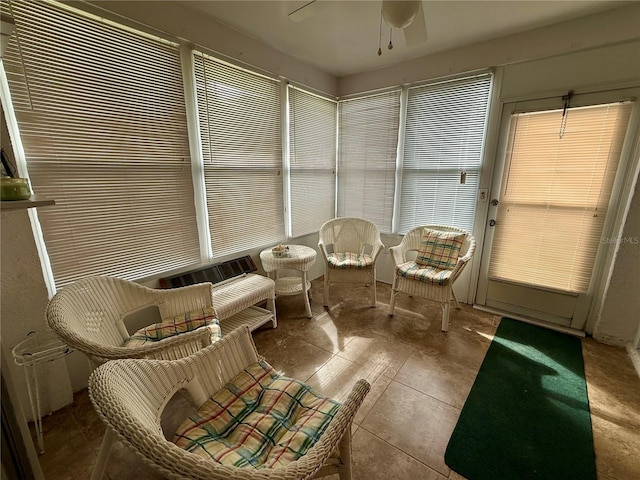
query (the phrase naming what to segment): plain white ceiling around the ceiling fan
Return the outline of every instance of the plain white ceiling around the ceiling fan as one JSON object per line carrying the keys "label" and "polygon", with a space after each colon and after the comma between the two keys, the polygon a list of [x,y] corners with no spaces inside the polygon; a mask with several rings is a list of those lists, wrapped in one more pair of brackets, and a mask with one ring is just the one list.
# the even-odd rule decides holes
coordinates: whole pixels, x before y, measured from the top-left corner
{"label": "plain white ceiling around the ceiling fan", "polygon": [[369,0],[317,0],[311,15],[294,22],[288,13],[310,0],[185,1],[188,9],[205,13],[245,35],[259,40],[318,69],[342,77],[435,52],[489,40],[570,20],[628,1],[612,0],[448,0],[423,1],[428,39],[412,47],[400,30],[382,33],[382,55],[377,55],[382,2]]}

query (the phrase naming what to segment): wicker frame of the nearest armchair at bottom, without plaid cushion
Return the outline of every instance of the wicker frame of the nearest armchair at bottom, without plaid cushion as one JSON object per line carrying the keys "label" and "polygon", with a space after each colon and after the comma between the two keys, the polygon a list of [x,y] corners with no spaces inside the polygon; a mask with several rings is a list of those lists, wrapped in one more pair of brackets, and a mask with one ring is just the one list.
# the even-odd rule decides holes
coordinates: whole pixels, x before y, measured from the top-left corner
{"label": "wicker frame of the nearest armchair at bottom, without plaid cushion", "polygon": [[184,388],[199,407],[259,360],[263,359],[245,326],[181,360],[115,360],[98,367],[89,380],[89,394],[107,425],[107,433],[92,479],[102,478],[116,437],[170,479],[298,480],[333,473],[338,473],[342,480],[350,479],[351,424],[370,388],[364,380],[354,385],[317,442],[284,466],[256,469],[218,463],[165,438],[160,418],[176,392]]}

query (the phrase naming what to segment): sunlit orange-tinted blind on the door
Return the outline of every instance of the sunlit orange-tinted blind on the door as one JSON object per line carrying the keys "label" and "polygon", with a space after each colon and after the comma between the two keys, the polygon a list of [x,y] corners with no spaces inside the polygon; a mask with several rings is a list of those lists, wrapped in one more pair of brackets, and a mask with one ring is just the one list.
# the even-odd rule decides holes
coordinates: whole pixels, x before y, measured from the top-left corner
{"label": "sunlit orange-tinted blind on the door", "polygon": [[586,293],[631,104],[515,114],[491,278]]}

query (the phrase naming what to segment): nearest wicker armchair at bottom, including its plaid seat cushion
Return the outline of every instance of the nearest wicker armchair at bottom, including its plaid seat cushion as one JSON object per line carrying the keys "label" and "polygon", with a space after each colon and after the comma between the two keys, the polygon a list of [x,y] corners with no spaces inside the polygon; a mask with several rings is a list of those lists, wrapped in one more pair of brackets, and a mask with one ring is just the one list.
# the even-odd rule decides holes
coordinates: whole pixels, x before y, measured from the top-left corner
{"label": "nearest wicker armchair at bottom, including its plaid seat cushion", "polygon": [[[331,402],[331,416],[327,416],[324,410],[318,414],[317,411],[321,409],[309,409],[314,410],[315,415],[320,415],[318,424],[323,425],[322,431],[315,437],[312,434],[311,442],[304,442],[305,448],[308,448],[306,452],[296,451],[290,448],[292,437],[287,435],[300,435],[312,424],[317,424],[315,420],[306,421],[304,428],[301,428],[300,424],[305,418],[308,419],[306,414],[300,414],[306,401],[296,401],[300,400],[297,396],[291,398],[283,395],[284,389],[278,388],[275,383],[266,383],[262,389],[263,377],[254,377],[254,370],[251,370],[256,365],[260,368],[270,367],[258,355],[249,329],[245,326],[181,360],[116,360],[98,367],[89,380],[89,394],[96,411],[107,425],[107,432],[92,479],[102,478],[110,447],[116,437],[161,473],[163,478],[298,480],[338,473],[342,480],[350,479],[351,424],[369,391],[369,384],[364,380],[358,381],[344,404],[321,400]],[[249,375],[246,372],[252,373],[243,377]],[[290,386],[293,384],[302,389],[298,391],[305,394],[310,392],[309,387],[300,382],[274,375],[287,383],[288,393],[291,393]],[[239,377],[249,378],[250,387],[239,389]],[[253,390],[256,387],[259,393]],[[192,414],[186,421],[190,426],[188,429],[181,426],[177,429],[179,433],[167,431],[166,434],[174,438],[174,443],[165,438],[160,418],[165,405],[181,389],[187,391],[196,408],[203,409],[211,405],[213,410],[207,410],[207,413],[200,413],[203,412],[200,410],[198,414]],[[259,404],[255,406],[244,395],[252,396],[254,403]],[[222,398],[224,401],[221,401]],[[287,408],[281,411],[279,407],[284,405],[280,404],[277,407],[264,405],[266,398],[286,398],[286,402],[291,403],[291,411]],[[250,408],[252,410],[249,413],[247,410]],[[282,412],[288,419],[281,418]],[[220,418],[224,418],[222,425],[214,423]],[[290,422],[294,425],[290,425]],[[256,428],[258,423],[259,429]],[[197,428],[201,429],[201,437],[186,447],[188,449],[178,446],[179,441],[187,435],[185,432],[194,432]],[[279,435],[281,430],[286,430],[284,436]],[[255,442],[256,435],[266,438],[259,449],[253,450],[253,445],[249,446],[249,443]],[[234,438],[242,438],[243,443],[235,444]],[[206,453],[201,450],[203,445],[208,448]],[[213,448],[222,449],[222,453],[213,454],[210,450]],[[291,455],[292,450],[296,452],[292,458],[283,463],[276,462],[275,466],[269,466],[267,461],[237,466],[238,462],[234,461],[234,458],[239,458],[242,463],[250,454],[258,452],[256,455],[260,458],[273,462],[275,457],[280,458],[283,451]]]}

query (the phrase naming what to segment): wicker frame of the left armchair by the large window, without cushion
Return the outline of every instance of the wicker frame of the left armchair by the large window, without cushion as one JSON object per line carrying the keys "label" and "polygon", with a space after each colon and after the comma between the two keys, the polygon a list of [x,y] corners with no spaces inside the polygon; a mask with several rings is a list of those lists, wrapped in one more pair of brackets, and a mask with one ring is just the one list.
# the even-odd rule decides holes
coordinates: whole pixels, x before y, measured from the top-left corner
{"label": "wicker frame of the left armchair by the large window, without cushion", "polygon": [[59,290],[49,301],[46,318],[49,327],[86,354],[94,367],[118,358],[181,358],[211,344],[209,328],[125,346],[130,335],[124,319],[152,306],[158,307],[162,319],[213,307],[212,288],[201,283],[160,290],[114,277],[87,277]]}

